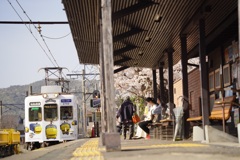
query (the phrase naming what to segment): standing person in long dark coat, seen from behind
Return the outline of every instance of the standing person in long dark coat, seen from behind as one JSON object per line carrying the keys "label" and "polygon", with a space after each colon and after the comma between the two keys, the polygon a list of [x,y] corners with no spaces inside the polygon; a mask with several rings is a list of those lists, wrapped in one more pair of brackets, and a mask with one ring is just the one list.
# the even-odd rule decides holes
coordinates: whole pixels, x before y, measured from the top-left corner
{"label": "standing person in long dark coat, seen from behind", "polygon": [[129,139],[132,139],[134,132],[134,124],[132,121],[133,113],[135,112],[134,105],[130,100],[130,97],[127,96],[123,104],[117,113],[117,118],[121,118],[122,126],[123,126],[123,135],[124,139],[126,139],[127,128],[129,128]]}

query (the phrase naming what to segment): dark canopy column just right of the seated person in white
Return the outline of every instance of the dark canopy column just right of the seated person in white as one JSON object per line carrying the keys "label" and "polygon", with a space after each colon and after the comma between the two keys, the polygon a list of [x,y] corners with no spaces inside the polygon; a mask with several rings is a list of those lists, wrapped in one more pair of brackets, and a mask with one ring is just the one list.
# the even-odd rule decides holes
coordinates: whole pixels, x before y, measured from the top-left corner
{"label": "dark canopy column just right of the seated person in white", "polygon": [[[168,48],[168,101],[170,105],[170,113],[173,114],[174,96],[173,96],[173,48]],[[172,116],[171,116],[172,118]]]}

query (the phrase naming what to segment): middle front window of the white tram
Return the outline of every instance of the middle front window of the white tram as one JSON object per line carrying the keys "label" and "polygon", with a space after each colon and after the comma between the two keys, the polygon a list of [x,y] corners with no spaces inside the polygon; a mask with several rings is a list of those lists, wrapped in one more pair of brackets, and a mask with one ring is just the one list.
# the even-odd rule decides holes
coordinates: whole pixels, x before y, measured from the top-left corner
{"label": "middle front window of the white tram", "polygon": [[57,104],[44,105],[44,120],[53,121],[58,119]]}

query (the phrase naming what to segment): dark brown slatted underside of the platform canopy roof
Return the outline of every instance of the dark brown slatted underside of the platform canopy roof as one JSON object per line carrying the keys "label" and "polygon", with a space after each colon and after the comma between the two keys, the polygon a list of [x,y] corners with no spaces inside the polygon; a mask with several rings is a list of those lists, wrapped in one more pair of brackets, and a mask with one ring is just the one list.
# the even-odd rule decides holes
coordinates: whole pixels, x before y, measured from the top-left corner
{"label": "dark brown slatted underside of the platform canopy roof", "polygon": [[[62,2],[79,61],[99,64],[101,1]],[[168,48],[174,49],[176,64],[180,35],[187,35],[188,58],[196,56],[200,17],[210,44],[237,20],[237,0],[112,0],[114,65],[156,68],[160,61],[167,64]]]}

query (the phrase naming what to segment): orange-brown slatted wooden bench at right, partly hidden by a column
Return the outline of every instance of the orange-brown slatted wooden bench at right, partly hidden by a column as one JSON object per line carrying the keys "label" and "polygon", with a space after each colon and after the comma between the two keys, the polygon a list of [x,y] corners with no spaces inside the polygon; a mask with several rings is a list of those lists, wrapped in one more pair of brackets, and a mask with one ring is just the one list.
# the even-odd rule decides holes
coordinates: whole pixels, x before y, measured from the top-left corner
{"label": "orange-brown slatted wooden bench at right, partly hidden by a column", "polygon": [[[235,96],[230,96],[215,100],[209,120],[222,121],[223,128],[225,130],[225,121],[227,121],[231,116],[232,105],[235,101],[235,98]],[[187,121],[200,123],[202,121],[202,116],[190,117],[187,119]]]}

